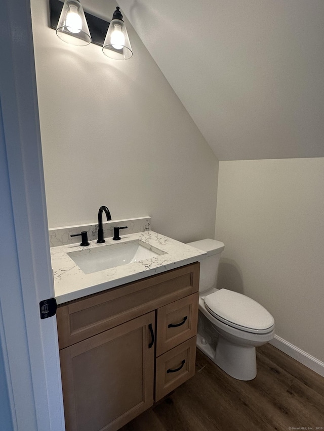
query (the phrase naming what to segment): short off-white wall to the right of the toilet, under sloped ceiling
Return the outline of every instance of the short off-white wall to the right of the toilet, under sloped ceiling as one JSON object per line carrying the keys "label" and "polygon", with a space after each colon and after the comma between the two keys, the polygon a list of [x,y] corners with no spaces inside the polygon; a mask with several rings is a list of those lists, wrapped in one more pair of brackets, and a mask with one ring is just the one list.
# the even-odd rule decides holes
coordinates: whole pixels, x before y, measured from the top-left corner
{"label": "short off-white wall to the right of the toilet, under sloped ceiling", "polygon": [[274,316],[275,333],[324,360],[324,158],[220,162],[216,239],[224,288]]}

